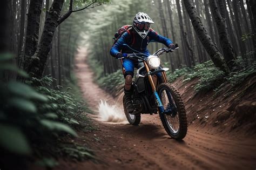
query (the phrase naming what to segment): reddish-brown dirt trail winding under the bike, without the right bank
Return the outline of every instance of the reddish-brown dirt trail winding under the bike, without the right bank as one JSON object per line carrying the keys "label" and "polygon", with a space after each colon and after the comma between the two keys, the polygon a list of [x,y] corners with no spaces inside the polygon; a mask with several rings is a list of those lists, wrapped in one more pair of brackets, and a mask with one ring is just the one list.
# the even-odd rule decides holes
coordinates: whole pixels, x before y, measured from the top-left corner
{"label": "reddish-brown dirt trail winding under the bike, without the right bank", "polygon": [[[106,100],[109,105],[122,100],[122,97],[114,99],[93,82],[93,72],[86,63],[86,49],[80,49],[76,57],[76,75],[84,98],[96,112],[100,100]],[[179,87],[178,83],[174,85],[184,93],[180,90],[182,86]],[[189,105],[191,106],[192,104]],[[109,109],[104,104],[102,107],[102,112]],[[122,108],[122,105],[119,107]],[[120,108],[112,108],[113,112],[122,113],[118,118],[110,118],[109,121],[123,120],[124,113],[122,109],[119,110]],[[209,131],[210,127],[200,128],[201,126],[190,125],[184,140],[176,141],[167,135],[157,114],[143,114],[139,126],[129,125],[127,121],[107,123],[102,121],[99,115],[90,115],[90,117],[93,118],[93,124],[98,130],[82,135],[92,139],[88,144],[101,161],[62,162],[56,169],[256,168],[255,135],[239,138],[238,135],[230,135],[228,132],[214,133]]]}

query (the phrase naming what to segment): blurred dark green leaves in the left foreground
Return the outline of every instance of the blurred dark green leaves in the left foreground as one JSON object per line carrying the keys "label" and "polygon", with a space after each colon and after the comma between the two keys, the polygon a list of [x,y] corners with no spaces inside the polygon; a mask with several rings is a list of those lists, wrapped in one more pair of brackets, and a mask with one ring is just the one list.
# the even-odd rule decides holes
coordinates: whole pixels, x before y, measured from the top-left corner
{"label": "blurred dark green leaves in the left foreground", "polygon": [[[0,55],[0,65],[11,59],[1,57]],[[0,74],[3,74],[3,71],[13,70],[5,67],[0,70]],[[52,81],[50,77],[31,78],[26,84],[15,80],[0,80],[2,152],[11,155],[36,154],[37,157],[43,157],[45,151],[54,154],[59,152],[59,143],[64,143],[60,140],[62,137],[77,137],[73,128],[84,129],[89,126],[89,120],[82,114],[85,111],[83,103],[67,91],[60,91],[60,88],[51,89]],[[72,148],[71,145],[70,147]],[[84,157],[88,157],[83,153],[83,149],[80,152]],[[41,163],[47,167],[55,165],[51,159],[43,159]]]}

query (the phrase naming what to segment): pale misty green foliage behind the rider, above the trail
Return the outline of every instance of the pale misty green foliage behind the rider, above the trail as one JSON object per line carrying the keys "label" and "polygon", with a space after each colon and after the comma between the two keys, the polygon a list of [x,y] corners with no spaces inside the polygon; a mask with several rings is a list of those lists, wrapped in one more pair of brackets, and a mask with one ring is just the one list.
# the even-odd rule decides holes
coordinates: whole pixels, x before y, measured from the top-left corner
{"label": "pale misty green foliage behind the rider, above the trail", "polygon": [[[97,77],[120,69],[120,62],[109,55],[109,50],[113,44],[112,37],[118,28],[131,24],[137,12],[153,11],[151,10],[151,3],[148,0],[112,0],[111,5],[102,5],[97,10],[88,10],[86,17],[89,19],[84,23],[83,35],[85,36],[83,37],[85,37],[84,42],[86,42],[87,50],[90,52],[90,59],[97,61],[93,62],[96,64],[93,65],[93,68],[96,69]],[[144,4],[149,4],[149,6]]]}

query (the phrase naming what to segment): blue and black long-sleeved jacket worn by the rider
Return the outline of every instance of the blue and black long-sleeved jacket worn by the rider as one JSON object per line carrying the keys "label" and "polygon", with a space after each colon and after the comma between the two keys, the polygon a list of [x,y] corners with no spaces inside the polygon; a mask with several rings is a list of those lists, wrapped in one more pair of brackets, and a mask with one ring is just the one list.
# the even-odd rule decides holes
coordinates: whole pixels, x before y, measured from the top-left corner
{"label": "blue and black long-sleeved jacket worn by the rider", "polygon": [[138,33],[134,29],[132,29],[130,33],[125,32],[112,46],[112,48],[110,49],[110,55],[116,57],[117,53],[121,50],[123,53],[134,52],[130,50],[128,47],[123,46],[123,44],[129,45],[130,47],[132,47],[132,49],[137,50],[139,52],[149,53],[149,51],[147,51],[147,45],[150,42],[158,42],[165,44],[166,46],[172,44],[172,40],[159,35],[153,29],[149,30],[149,33],[147,33],[147,36],[144,39],[140,37],[140,35],[138,35]]}

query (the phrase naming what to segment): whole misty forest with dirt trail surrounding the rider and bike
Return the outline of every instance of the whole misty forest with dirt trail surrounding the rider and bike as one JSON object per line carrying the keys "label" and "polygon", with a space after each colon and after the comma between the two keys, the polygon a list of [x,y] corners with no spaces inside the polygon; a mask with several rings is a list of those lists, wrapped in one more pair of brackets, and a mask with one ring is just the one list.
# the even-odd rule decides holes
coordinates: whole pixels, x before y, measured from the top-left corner
{"label": "whole misty forest with dirt trail surrounding the rider and bike", "polygon": [[[4,0],[0,12],[0,169],[255,168],[256,1]],[[154,115],[124,120],[110,49],[138,12],[179,45],[160,58],[186,108],[183,143]]]}

